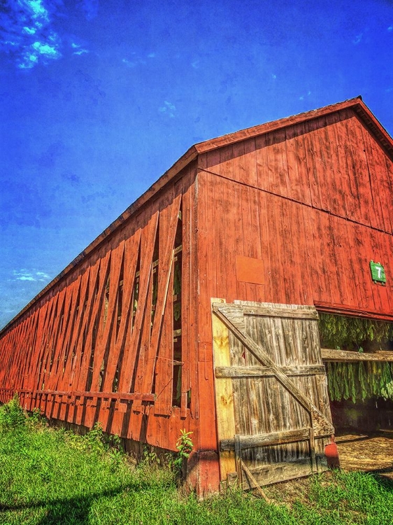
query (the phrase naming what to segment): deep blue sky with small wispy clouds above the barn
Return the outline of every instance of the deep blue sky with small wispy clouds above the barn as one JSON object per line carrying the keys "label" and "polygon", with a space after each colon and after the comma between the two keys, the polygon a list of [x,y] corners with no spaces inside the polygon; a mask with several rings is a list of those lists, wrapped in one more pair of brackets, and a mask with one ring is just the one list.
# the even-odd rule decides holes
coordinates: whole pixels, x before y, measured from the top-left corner
{"label": "deep blue sky with small wispy clouds above the barn", "polygon": [[393,2],[3,0],[0,326],[192,144],[362,94]]}

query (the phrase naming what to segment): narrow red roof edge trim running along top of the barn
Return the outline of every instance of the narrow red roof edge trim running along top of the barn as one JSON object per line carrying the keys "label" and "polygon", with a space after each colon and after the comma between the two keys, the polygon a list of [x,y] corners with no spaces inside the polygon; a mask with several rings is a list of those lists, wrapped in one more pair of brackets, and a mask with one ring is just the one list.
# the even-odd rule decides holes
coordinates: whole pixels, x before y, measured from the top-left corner
{"label": "narrow red roof edge trim running along top of the barn", "polygon": [[190,162],[197,159],[198,155],[207,153],[208,151],[212,151],[217,148],[229,146],[230,144],[235,144],[236,142],[250,139],[252,137],[274,132],[287,126],[313,120],[330,113],[336,113],[337,111],[348,108],[351,108],[353,111],[355,111],[355,113],[357,113],[359,118],[364,122],[364,125],[370,130],[374,137],[376,137],[380,145],[393,160],[393,139],[387,133],[385,128],[380,124],[378,119],[373,116],[373,113],[371,113],[366,104],[364,104],[361,96],[355,97],[354,99],[345,100],[344,102],[338,102],[337,104],[324,106],[323,108],[315,109],[313,111],[306,111],[305,113],[299,113],[298,115],[291,117],[273,120],[272,122],[262,125],[248,127],[245,130],[194,144],[194,146],[191,146],[191,148],[189,148],[186,153],[180,157],[180,159],[177,160],[171,168],[169,168],[167,172],[165,172],[154,184],[152,184],[152,186],[150,186],[150,188],[148,188],[148,190],[146,190],[145,193],[141,195],[141,197],[138,197],[138,199],[133,204],[131,204],[131,206],[129,206],[113,223],[111,223],[108,228],[106,228],[106,230],[104,230],[101,235],[97,237],[97,239],[94,239],[94,241],[92,241],[92,243],[87,246],[87,248],[85,248],[85,250],[83,250],[57,277],[55,277],[55,279],[45,286],[45,288],[43,288],[43,290],[41,290],[41,292],[38,293],[38,295],[36,295],[36,297],[34,297],[34,299],[31,300],[31,302],[29,302],[29,304],[27,304],[27,306],[24,307],[24,309],[22,309],[22,311],[20,311],[20,313],[17,314],[17,316],[15,316],[12,321],[10,321],[2,330],[0,330],[0,334],[8,329],[17,318],[22,316],[22,314],[24,314],[24,312],[27,311],[27,309],[29,309],[29,307],[31,307],[31,305],[34,304],[38,298],[42,297],[50,288],[52,288],[55,283],[66,276],[66,274],[68,274],[73,267],[78,265],[78,263],[81,262],[87,254],[91,253],[95,248],[97,248],[99,244],[101,244],[101,242],[106,239],[114,230],[117,230],[117,228],[127,221],[129,217],[141,209],[141,207],[143,207],[146,202],[148,202],[156,193],[158,193],[159,190],[162,190],[166,184],[175,179],[176,176],[180,174],[182,169],[187,167]]}

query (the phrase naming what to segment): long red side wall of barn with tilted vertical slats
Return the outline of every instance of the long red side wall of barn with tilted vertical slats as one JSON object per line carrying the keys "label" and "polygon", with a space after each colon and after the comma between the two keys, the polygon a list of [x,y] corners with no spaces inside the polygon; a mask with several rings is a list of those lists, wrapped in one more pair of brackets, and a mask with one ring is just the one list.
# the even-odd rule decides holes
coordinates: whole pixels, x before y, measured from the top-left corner
{"label": "long red side wall of barn with tilted vertical slats", "polygon": [[[1,388],[26,390],[23,405],[41,406],[48,417],[87,427],[100,421],[110,433],[164,449],[175,449],[181,428],[192,430],[198,442],[195,174],[193,163],[11,323],[0,342]],[[173,407],[177,228],[183,365],[180,406]],[[155,393],[156,400],[31,394],[41,390]],[[5,402],[12,392],[0,394]]]}

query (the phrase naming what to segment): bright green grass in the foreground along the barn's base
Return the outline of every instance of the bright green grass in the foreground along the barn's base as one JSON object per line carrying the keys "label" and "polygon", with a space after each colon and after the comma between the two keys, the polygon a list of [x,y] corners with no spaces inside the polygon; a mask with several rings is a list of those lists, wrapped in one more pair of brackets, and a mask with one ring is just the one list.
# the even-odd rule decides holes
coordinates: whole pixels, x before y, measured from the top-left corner
{"label": "bright green grass in the foreground along the barn's base", "polygon": [[[19,411],[19,412],[18,412]],[[103,443],[0,407],[0,524],[393,523],[393,484],[364,472],[327,472],[266,488],[274,503],[228,491],[199,502],[169,468],[136,465]],[[115,442],[116,444],[116,442]]]}

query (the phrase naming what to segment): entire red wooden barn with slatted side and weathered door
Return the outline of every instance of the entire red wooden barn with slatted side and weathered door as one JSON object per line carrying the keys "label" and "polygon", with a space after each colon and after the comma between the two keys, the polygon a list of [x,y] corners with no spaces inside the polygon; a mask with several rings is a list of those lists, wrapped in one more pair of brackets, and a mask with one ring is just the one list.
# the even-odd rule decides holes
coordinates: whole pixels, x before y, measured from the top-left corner
{"label": "entire red wooden barn with slatted side and weathered door", "polygon": [[325,468],[318,312],[393,321],[392,161],[360,97],[192,146],[1,330],[1,401],[191,431],[200,492]]}

